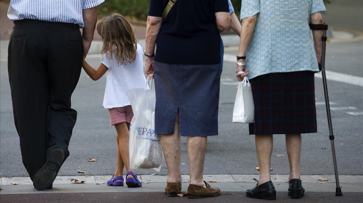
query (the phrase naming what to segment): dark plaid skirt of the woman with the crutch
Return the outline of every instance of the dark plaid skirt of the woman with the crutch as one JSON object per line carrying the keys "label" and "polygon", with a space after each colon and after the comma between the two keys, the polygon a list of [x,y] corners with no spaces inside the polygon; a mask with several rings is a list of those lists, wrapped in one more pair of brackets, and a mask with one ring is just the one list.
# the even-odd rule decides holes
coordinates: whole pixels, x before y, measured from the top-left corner
{"label": "dark plaid skirt of the woman with the crutch", "polygon": [[314,72],[269,73],[250,79],[254,123],[249,134],[316,133]]}

